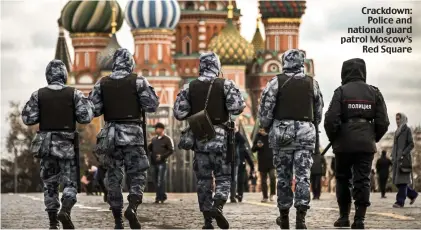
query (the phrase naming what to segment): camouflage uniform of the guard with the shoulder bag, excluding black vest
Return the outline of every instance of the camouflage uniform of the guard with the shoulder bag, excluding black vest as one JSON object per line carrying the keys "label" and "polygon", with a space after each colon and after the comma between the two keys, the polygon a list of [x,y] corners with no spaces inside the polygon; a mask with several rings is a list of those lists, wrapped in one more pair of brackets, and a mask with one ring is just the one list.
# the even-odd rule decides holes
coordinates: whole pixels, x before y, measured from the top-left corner
{"label": "camouflage uniform of the guard with the shoulder bag, excluding black vest", "polygon": [[[199,81],[211,81],[219,76],[221,63],[214,53],[204,53],[200,56]],[[231,115],[240,114],[245,108],[245,102],[235,83],[225,80],[224,94],[226,107]],[[185,120],[191,111],[188,85],[177,95],[174,104],[174,116],[177,120]],[[226,202],[230,192],[231,166],[225,163],[227,151],[227,132],[220,126],[214,126],[216,137],[209,142],[198,142],[191,132],[182,136],[179,147],[190,149],[194,145],[194,171],[197,177],[197,196],[201,212],[212,209],[213,201]],[[186,138],[187,137],[187,138]],[[189,147],[186,147],[189,145]],[[215,177],[216,190],[212,199],[213,181]]]}

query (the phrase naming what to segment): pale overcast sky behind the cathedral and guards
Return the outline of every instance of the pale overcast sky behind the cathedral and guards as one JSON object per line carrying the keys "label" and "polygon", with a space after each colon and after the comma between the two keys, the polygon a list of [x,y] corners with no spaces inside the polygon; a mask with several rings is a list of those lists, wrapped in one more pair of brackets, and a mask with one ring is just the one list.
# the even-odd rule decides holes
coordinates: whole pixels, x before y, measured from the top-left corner
{"label": "pale overcast sky behind the cathedral and guards", "polygon": [[[45,67],[54,58],[58,36],[57,19],[65,0],[1,1],[1,142],[8,130],[5,117],[9,101],[25,103],[31,93],[46,85]],[[119,0],[124,9],[126,0]],[[241,34],[251,40],[255,31],[257,0],[237,0],[243,17]],[[413,9],[412,54],[364,54],[360,44],[340,44],[350,26],[367,25],[362,7],[408,7]],[[246,26],[250,25],[250,26]],[[391,126],[397,112],[408,115],[410,125],[421,124],[421,1],[309,0],[300,27],[300,46],[314,59],[316,78],[329,106],[340,85],[342,62],[365,59],[367,82],[377,86],[387,102]],[[119,43],[133,51],[126,23],[117,32]],[[68,39],[71,48],[71,41]],[[407,45],[407,44],[405,44]],[[73,49],[70,50],[73,58]],[[72,59],[73,60],[73,59]],[[321,127],[322,132],[323,128]],[[322,145],[327,144],[325,134]]]}

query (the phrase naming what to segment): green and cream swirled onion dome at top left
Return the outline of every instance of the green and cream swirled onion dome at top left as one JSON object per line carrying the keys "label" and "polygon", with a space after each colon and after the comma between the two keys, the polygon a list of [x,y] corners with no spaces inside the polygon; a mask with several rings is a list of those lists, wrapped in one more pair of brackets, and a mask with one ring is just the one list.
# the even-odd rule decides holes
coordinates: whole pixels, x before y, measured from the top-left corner
{"label": "green and cream swirled onion dome at top left", "polygon": [[63,27],[70,33],[111,33],[112,9],[117,7],[117,30],[123,12],[117,1],[69,1],[61,12]]}

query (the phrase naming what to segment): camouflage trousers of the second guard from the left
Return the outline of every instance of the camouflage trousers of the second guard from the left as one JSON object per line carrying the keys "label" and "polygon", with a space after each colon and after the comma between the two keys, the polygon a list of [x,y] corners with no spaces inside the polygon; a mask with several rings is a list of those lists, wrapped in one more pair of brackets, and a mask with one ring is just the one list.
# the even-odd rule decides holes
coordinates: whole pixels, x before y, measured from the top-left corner
{"label": "camouflage trousers of the second guard from the left", "polygon": [[149,168],[148,156],[142,146],[116,147],[113,158],[107,164],[108,204],[111,208],[123,208],[122,183],[124,170],[129,187],[129,197],[142,201]]}

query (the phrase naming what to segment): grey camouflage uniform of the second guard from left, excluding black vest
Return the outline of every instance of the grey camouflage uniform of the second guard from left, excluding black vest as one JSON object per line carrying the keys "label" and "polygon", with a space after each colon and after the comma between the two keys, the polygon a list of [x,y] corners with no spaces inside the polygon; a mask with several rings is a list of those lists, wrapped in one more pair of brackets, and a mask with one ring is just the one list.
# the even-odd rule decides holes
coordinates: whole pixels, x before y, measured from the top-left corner
{"label": "grey camouflage uniform of the second guard from left, excluding black vest", "polygon": [[[113,72],[110,77],[121,79],[132,73],[134,61],[127,49],[120,48],[114,54]],[[136,87],[140,107],[145,112],[155,112],[159,105],[159,98],[146,78],[138,76]],[[118,95],[116,95],[118,96]],[[89,98],[95,106],[96,117],[103,114],[101,85],[98,81]],[[124,169],[129,182],[129,202],[142,203],[143,191],[146,185],[146,173],[149,160],[144,150],[143,130],[137,124],[122,124],[106,122],[97,135],[95,152],[107,168],[108,203],[112,209],[123,208],[122,182]]]}

